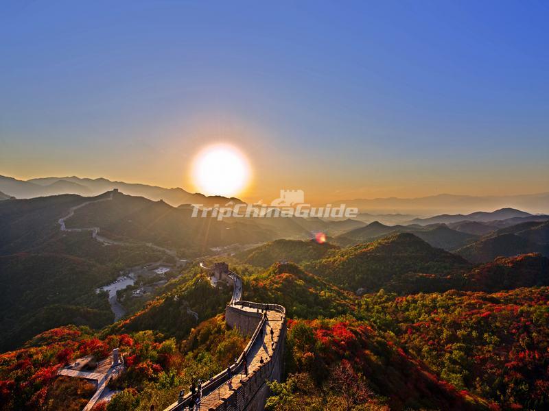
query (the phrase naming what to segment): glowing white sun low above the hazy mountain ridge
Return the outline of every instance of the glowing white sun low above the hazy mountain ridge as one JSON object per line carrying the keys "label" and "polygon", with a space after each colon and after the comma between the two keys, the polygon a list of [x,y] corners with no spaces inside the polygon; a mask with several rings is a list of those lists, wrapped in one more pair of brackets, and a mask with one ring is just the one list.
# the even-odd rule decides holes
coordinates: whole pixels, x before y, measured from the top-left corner
{"label": "glowing white sun low above the hazy mountain ridge", "polygon": [[205,195],[238,195],[250,180],[246,156],[231,145],[206,147],[194,159],[192,178],[196,188]]}

